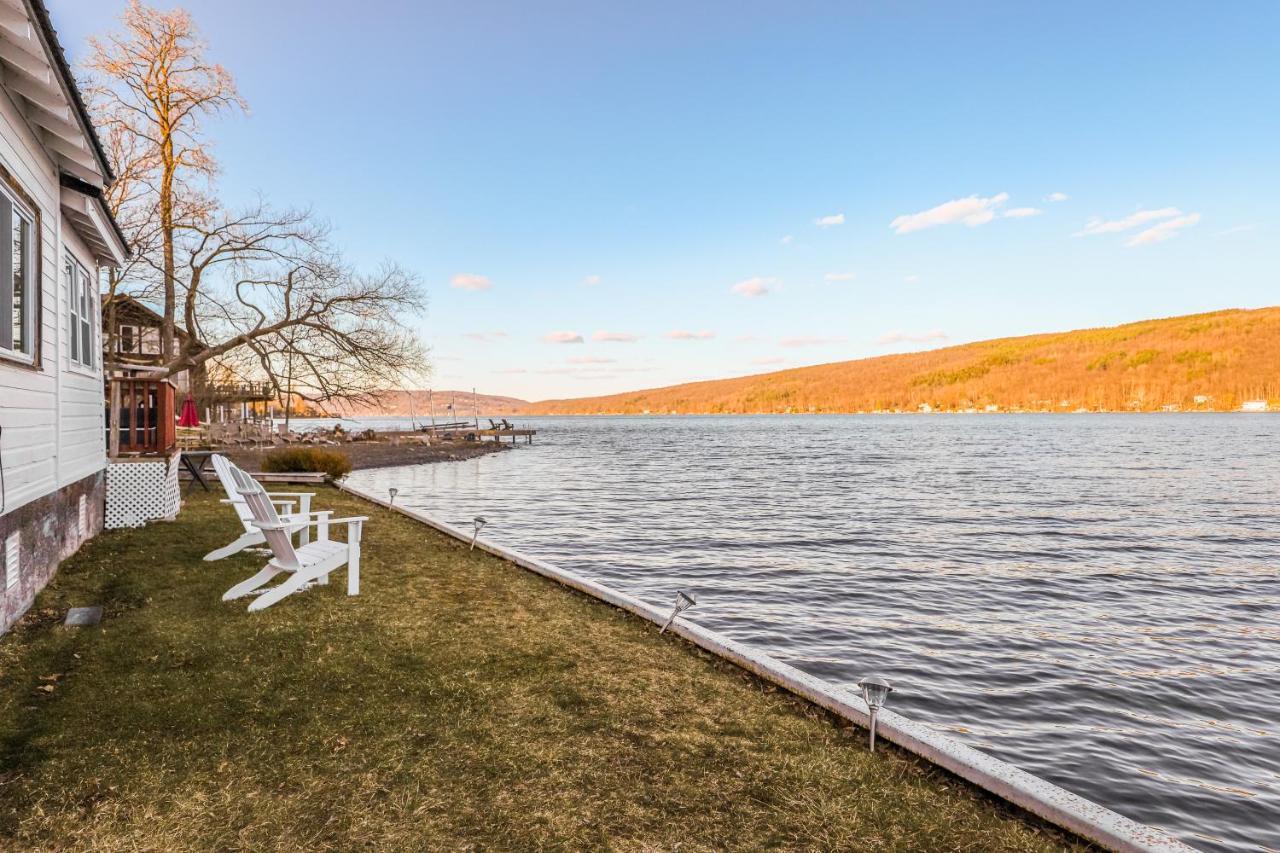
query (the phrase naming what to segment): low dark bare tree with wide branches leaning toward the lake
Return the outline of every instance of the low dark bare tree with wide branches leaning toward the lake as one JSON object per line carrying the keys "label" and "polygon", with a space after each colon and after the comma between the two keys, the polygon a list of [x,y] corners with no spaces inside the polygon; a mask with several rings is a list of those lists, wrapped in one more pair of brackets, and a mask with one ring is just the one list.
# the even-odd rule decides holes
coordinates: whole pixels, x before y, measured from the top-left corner
{"label": "low dark bare tree with wide branches leaning toward the lake", "polygon": [[241,351],[278,393],[289,373],[291,391],[326,402],[370,400],[425,361],[404,324],[425,307],[417,277],[394,264],[357,273],[306,211],[259,204],[191,229],[179,248],[192,334],[169,374]]}

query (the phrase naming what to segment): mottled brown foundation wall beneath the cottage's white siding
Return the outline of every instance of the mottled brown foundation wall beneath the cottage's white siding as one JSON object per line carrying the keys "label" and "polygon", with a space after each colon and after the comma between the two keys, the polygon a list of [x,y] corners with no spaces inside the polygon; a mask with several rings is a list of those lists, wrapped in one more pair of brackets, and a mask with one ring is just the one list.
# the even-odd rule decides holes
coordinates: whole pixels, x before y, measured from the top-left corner
{"label": "mottled brown foundation wall beneath the cottage's white siding", "polygon": [[[27,612],[36,594],[58,571],[58,564],[102,530],[106,478],[91,474],[51,494],[0,516],[0,634]],[[79,534],[79,497],[86,497],[86,535]],[[18,583],[5,589],[4,544],[14,530],[22,532]]]}

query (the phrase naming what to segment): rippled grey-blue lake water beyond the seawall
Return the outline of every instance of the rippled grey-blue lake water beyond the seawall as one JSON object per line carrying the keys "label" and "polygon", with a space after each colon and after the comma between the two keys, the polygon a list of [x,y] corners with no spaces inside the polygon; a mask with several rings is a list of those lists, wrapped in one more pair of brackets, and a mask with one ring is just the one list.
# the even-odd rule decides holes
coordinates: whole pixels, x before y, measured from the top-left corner
{"label": "rippled grey-blue lake water beyond the seawall", "polygon": [[520,419],[352,482],[1194,847],[1280,848],[1280,418]]}

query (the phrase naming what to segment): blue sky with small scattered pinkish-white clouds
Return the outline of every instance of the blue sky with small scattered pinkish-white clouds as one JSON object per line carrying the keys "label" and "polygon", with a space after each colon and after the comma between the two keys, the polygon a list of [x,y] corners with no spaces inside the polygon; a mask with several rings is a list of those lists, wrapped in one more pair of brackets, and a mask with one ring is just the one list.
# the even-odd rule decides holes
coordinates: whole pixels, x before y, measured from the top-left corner
{"label": "blue sky with small scattered pinkish-white clouds", "polygon": [[[73,60],[123,8],[49,5]],[[416,270],[436,388],[1280,304],[1271,0],[184,8],[251,106],[225,197]]]}

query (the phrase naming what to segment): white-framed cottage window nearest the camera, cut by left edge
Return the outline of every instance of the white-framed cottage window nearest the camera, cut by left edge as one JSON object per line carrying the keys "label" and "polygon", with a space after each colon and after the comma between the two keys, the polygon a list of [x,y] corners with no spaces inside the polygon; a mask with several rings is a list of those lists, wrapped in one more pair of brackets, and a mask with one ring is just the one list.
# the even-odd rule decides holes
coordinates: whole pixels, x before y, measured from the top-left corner
{"label": "white-framed cottage window nearest the camera, cut by left edge", "polygon": [[31,361],[36,351],[36,218],[0,186],[0,353]]}

